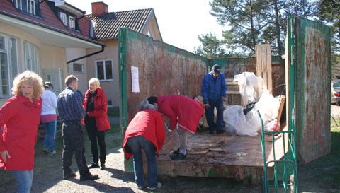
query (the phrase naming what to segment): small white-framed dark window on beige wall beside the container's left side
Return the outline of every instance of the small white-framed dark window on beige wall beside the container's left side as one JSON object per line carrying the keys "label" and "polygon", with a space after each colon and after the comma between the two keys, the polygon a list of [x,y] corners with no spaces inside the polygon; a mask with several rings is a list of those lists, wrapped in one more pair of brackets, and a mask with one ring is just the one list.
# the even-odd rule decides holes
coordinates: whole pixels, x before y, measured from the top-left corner
{"label": "small white-framed dark window on beige wall beside the container's left side", "polygon": [[97,78],[101,81],[113,80],[113,64],[112,60],[96,61]]}

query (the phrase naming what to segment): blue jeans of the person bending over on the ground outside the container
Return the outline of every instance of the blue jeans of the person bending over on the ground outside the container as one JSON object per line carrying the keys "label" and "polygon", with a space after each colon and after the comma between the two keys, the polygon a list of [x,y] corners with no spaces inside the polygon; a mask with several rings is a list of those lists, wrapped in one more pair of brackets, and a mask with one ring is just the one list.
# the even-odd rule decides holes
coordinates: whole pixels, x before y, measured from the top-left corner
{"label": "blue jeans of the person bending over on the ground outside the container", "polygon": [[128,146],[133,153],[133,168],[135,182],[138,187],[144,186],[144,170],[142,148],[147,156],[147,181],[149,187],[157,187],[157,159],[156,147],[144,136],[132,136],[128,139]]}

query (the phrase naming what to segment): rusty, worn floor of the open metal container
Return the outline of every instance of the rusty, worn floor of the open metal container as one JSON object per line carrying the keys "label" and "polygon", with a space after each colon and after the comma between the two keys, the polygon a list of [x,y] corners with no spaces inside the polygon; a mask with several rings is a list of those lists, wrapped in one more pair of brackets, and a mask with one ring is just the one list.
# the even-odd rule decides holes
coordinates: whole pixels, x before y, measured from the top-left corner
{"label": "rusty, worn floor of the open metal container", "polygon": [[[272,141],[271,135],[265,136],[267,161],[273,160]],[[275,137],[275,142],[276,158],[279,159],[284,152],[282,134]],[[250,181],[258,181],[263,176],[260,135],[216,135],[209,134],[208,131],[189,134],[186,160],[174,161],[170,158],[172,152],[179,148],[179,136],[176,129],[172,132],[166,132],[164,145],[165,149],[160,151],[158,158],[159,175],[227,177],[234,180]],[[145,168],[146,166],[145,163]],[[271,170],[271,168],[268,168],[268,170]]]}

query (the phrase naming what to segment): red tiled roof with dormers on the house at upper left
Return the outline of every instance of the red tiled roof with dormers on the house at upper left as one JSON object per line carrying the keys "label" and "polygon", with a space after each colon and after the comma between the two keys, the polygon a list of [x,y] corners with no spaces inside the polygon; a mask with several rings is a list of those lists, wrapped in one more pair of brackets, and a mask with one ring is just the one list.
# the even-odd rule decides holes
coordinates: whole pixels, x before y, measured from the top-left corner
{"label": "red tiled roof with dormers on the house at upper left", "polygon": [[0,1],[1,1],[0,11],[4,11],[5,13],[9,13],[13,16],[18,16],[20,18],[25,18],[35,23],[40,23],[42,24],[42,26],[45,25],[46,27],[56,28],[57,30],[62,30],[67,33],[72,33],[74,35],[79,35],[81,37],[89,38],[89,28],[90,28],[89,18],[83,17],[78,21],[79,28],[81,30],[81,32],[79,33],[77,31],[66,28],[65,25],[62,23],[62,21],[60,21],[60,19],[55,16],[55,13],[53,13],[50,6],[47,5],[46,1],[40,4],[40,11],[41,11],[42,19],[35,18],[33,16],[29,16],[24,13],[20,13],[16,11],[16,8],[14,8],[13,4],[11,4],[10,1],[7,1],[7,0],[0,0]]}

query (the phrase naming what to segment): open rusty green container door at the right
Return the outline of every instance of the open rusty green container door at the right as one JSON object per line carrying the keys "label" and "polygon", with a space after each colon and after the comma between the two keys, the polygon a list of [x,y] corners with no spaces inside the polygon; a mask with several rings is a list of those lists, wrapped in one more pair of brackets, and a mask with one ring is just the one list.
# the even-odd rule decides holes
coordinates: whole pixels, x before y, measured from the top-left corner
{"label": "open rusty green container door at the right", "polygon": [[331,45],[326,25],[288,18],[288,124],[295,108],[297,158],[309,163],[330,152]]}

